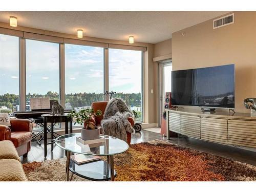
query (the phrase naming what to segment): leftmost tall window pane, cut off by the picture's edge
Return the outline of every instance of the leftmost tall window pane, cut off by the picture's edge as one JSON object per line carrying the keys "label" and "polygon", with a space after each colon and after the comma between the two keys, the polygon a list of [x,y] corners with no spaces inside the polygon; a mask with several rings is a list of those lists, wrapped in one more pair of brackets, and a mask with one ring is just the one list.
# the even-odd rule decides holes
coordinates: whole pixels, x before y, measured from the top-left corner
{"label": "leftmost tall window pane, cut off by the picture's edge", "polygon": [[0,113],[19,111],[19,38],[0,34]]}

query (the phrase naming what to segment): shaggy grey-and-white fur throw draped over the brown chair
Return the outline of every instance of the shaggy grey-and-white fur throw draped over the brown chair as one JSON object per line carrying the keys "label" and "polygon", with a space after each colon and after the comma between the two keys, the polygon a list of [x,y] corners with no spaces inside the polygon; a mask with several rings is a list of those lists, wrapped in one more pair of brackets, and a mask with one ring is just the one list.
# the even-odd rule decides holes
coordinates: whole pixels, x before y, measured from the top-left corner
{"label": "shaggy grey-and-white fur throw draped over the brown chair", "polygon": [[135,133],[131,123],[127,120],[128,117],[133,118],[133,113],[126,103],[119,98],[111,99],[106,105],[103,119],[100,122],[102,133],[126,141],[126,131]]}

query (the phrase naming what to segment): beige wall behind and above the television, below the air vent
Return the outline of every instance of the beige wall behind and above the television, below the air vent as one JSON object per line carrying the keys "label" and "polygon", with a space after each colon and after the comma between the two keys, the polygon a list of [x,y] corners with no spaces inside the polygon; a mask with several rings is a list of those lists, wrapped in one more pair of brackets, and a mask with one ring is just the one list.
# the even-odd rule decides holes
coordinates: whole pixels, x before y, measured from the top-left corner
{"label": "beige wall behind and above the television, below the air vent", "polygon": [[[234,12],[234,24],[212,29],[212,19],[172,34],[173,69],[236,65],[236,112],[256,97],[256,12]],[[185,36],[182,33],[185,32]]]}

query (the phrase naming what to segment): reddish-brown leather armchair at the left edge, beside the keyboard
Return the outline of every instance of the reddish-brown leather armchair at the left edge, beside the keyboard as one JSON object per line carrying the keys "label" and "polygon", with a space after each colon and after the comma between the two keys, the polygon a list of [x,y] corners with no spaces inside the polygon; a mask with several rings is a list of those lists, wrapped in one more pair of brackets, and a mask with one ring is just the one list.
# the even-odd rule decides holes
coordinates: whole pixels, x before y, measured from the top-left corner
{"label": "reddish-brown leather armchair at the left edge, beside the keyboard", "polygon": [[28,119],[10,119],[11,126],[0,125],[0,141],[11,140],[19,156],[27,157],[31,148],[32,122]]}

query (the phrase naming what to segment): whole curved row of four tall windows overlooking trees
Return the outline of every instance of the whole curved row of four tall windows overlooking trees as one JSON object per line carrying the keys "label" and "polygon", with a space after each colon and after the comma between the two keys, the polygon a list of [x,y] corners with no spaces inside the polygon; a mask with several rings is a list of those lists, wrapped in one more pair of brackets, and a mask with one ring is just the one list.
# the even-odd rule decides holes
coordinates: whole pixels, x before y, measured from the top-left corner
{"label": "whole curved row of four tall windows overlooking trees", "polygon": [[[108,96],[104,91],[114,91],[113,97],[122,98],[131,111],[138,113],[136,120],[143,120],[142,51],[107,49],[105,44],[74,45],[78,41],[62,45],[49,39],[0,34],[0,112],[31,111],[31,98],[50,98],[59,103],[61,99],[66,110],[90,109],[92,102]],[[108,59],[106,66],[104,59]],[[25,78],[20,74],[26,74]]]}

